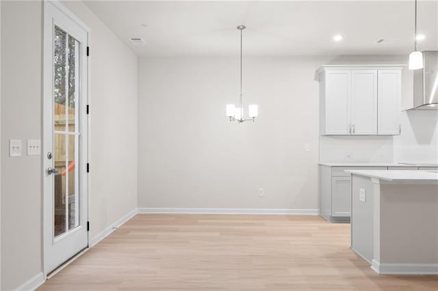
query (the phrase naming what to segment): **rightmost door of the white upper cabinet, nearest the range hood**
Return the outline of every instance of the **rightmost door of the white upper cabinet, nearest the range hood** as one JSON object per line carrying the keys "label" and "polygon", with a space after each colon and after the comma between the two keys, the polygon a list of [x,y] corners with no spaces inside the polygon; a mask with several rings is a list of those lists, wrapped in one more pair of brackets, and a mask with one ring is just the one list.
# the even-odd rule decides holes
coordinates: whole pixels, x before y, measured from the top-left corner
{"label": "rightmost door of the white upper cabinet, nearest the range hood", "polygon": [[378,135],[400,135],[400,70],[378,71]]}

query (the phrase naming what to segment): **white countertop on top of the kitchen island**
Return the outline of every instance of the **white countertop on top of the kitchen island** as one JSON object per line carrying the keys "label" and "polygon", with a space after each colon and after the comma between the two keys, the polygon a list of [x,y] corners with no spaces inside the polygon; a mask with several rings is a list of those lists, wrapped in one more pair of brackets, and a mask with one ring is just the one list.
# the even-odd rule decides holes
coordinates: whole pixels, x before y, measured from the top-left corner
{"label": "white countertop on top of the kitchen island", "polygon": [[438,183],[438,171],[346,170],[346,172],[391,182],[435,181]]}

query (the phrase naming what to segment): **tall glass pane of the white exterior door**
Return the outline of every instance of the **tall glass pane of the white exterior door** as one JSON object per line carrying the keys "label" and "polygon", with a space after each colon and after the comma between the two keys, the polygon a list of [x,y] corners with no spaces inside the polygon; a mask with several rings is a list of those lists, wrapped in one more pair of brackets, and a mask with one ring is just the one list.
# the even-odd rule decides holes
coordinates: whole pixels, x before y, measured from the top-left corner
{"label": "tall glass pane of the white exterior door", "polygon": [[79,225],[79,42],[55,25],[53,55],[53,236]]}

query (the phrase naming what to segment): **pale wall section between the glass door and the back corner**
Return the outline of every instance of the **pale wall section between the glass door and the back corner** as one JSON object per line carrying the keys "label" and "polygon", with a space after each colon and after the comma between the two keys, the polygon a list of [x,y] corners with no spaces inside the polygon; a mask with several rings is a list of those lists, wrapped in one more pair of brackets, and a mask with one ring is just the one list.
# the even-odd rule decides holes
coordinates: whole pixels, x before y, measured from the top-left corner
{"label": "pale wall section between the glass door and the back corner", "polygon": [[90,240],[137,208],[137,57],[80,1],[91,29]]}

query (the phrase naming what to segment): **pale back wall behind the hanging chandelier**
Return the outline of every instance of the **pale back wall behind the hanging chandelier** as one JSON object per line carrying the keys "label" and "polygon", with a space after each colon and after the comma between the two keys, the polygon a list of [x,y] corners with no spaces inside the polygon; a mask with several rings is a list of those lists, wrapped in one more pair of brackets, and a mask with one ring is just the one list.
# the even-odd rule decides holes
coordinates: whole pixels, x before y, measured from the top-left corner
{"label": "pale back wall behind the hanging chandelier", "polygon": [[244,124],[225,116],[237,57],[140,59],[138,206],[317,208],[314,75],[327,59],[244,57],[244,103],[259,104]]}

